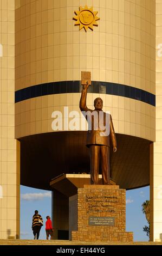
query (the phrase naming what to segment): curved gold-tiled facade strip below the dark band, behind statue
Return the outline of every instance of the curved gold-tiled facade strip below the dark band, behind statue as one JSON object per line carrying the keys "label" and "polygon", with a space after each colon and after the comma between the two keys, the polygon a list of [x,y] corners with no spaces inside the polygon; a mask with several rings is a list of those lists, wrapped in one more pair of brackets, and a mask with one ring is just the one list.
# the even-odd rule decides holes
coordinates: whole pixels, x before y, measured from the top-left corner
{"label": "curved gold-tiled facade strip below the dark band, behind statue", "polygon": [[[53,132],[51,127],[54,111],[62,114],[64,123],[64,106],[69,113],[77,111],[80,116],[79,130],[85,120],[79,109],[80,93],[55,94],[24,100],[15,105],[15,136],[21,138],[37,133]],[[103,100],[103,110],[109,111],[113,117],[115,132],[137,136],[155,141],[155,107],[147,103],[126,97],[92,94],[87,95],[87,106],[93,109],[96,97]],[[69,118],[69,122],[70,122]],[[65,127],[62,127],[63,130]],[[70,129],[69,129],[70,130]]]}

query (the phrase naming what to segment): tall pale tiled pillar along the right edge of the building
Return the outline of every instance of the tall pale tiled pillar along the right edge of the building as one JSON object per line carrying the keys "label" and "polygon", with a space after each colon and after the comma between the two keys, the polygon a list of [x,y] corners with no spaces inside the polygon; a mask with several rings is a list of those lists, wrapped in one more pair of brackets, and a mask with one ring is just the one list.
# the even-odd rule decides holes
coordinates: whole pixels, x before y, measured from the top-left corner
{"label": "tall pale tiled pillar along the right edge of the building", "polygon": [[151,240],[162,239],[162,1],[156,0],[156,142],[152,146],[153,170],[151,172]]}

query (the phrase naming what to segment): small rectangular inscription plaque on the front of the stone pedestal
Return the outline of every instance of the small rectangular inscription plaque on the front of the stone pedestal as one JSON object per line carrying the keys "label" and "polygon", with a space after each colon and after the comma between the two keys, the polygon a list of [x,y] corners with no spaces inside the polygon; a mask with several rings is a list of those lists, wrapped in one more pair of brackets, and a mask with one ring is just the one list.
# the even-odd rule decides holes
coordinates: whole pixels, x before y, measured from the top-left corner
{"label": "small rectangular inscription plaque on the front of the stone pedestal", "polygon": [[115,217],[94,217],[89,216],[88,218],[89,225],[99,225],[99,226],[114,226],[115,225]]}

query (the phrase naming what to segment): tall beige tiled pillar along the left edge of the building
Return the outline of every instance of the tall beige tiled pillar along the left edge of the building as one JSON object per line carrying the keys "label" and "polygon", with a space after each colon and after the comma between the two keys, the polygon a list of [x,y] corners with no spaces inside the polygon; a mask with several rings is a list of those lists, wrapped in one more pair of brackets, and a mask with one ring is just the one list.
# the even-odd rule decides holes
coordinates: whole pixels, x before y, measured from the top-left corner
{"label": "tall beige tiled pillar along the left edge of the building", "polygon": [[0,238],[20,235],[20,143],[15,139],[15,1],[0,1]]}

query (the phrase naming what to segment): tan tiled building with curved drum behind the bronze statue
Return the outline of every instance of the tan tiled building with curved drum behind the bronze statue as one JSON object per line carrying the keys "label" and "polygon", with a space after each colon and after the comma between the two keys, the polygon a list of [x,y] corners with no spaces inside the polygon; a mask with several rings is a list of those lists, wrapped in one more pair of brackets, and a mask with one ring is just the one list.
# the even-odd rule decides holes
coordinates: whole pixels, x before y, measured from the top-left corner
{"label": "tan tiled building with curved drum behind the bronze statue", "polygon": [[[81,127],[83,118],[79,100],[81,71],[90,71],[92,86],[88,90],[87,105],[93,108],[96,97],[103,99],[103,110],[112,114],[118,142],[117,153],[111,155],[111,178],[126,189],[151,184],[153,200],[157,186],[153,177],[158,176],[155,170],[161,164],[152,161],[154,157],[155,160],[160,157],[154,155],[153,147],[158,148],[158,154],[161,154],[160,142],[158,146],[157,143],[153,145],[156,138],[161,136],[157,131],[161,129],[161,116],[156,115],[155,108],[155,94],[160,93],[160,87],[156,87],[156,82],[160,84],[160,74],[156,81],[155,73],[156,66],[160,69],[158,63],[155,65],[156,1],[10,2],[12,7],[7,5],[6,9],[2,7],[1,10],[2,13],[7,11],[9,19],[12,19],[4,21],[8,29],[1,32],[0,41],[4,48],[1,57],[1,105],[2,136],[5,137],[2,137],[2,143],[6,147],[4,149],[2,144],[2,163],[3,157],[9,154],[5,160],[7,169],[3,169],[2,174],[12,168],[9,165],[12,156],[8,153],[12,150],[13,175],[17,176],[12,181],[15,198],[19,197],[16,186],[18,189],[20,185],[20,171],[22,185],[43,189],[51,189],[49,181],[62,173],[89,173],[86,129]],[[158,12],[162,10],[162,3],[159,2]],[[81,10],[88,11],[92,20],[87,21],[89,18],[79,16]],[[161,25],[160,13],[158,15],[157,22]],[[6,33],[8,40],[5,40]],[[5,87],[5,84],[8,86]],[[160,98],[158,102],[161,107]],[[64,124],[64,107],[68,107],[68,113],[79,113],[76,119],[79,126],[72,131],[62,125],[62,129],[54,131],[53,112],[61,112]],[[69,117],[70,120],[72,117]],[[4,127],[7,127],[7,133],[4,133]],[[16,152],[21,153],[21,166],[18,164],[19,153]],[[41,173],[40,178],[37,178],[37,173]],[[7,176],[2,186],[9,189],[10,179]],[[5,188],[4,197],[8,197]],[[0,200],[3,202],[4,198]],[[155,205],[156,200],[152,208],[152,240],[159,238],[157,225],[162,225],[160,219],[155,217]],[[14,204],[14,209],[18,207]],[[7,211],[10,208],[10,205],[5,205]],[[14,223],[18,223],[18,210],[13,211]],[[162,216],[162,209],[158,216]],[[1,229],[2,238],[10,227],[9,218],[6,218],[1,218],[1,223],[4,223],[3,220],[7,223]],[[11,228],[11,234],[18,234],[18,227],[17,231],[16,226]]]}

